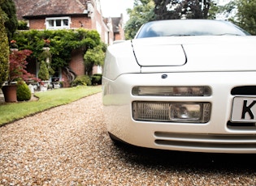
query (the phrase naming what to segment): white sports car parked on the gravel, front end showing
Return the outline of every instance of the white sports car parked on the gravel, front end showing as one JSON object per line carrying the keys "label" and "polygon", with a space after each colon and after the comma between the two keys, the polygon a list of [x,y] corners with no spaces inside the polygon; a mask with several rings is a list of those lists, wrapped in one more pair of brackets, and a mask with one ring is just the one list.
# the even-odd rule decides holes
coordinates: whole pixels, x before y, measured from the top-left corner
{"label": "white sports car parked on the gravel, front end showing", "polygon": [[108,47],[102,82],[113,140],[256,153],[256,36],[232,23],[145,23],[135,39]]}

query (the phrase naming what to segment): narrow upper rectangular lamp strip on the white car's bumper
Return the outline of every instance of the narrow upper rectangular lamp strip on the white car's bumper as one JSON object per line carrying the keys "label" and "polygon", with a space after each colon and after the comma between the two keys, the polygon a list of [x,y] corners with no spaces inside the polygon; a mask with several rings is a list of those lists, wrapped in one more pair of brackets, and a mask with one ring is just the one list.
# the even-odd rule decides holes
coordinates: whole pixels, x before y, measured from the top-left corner
{"label": "narrow upper rectangular lamp strip on the white car's bumper", "polygon": [[133,87],[132,95],[210,96],[210,87]]}

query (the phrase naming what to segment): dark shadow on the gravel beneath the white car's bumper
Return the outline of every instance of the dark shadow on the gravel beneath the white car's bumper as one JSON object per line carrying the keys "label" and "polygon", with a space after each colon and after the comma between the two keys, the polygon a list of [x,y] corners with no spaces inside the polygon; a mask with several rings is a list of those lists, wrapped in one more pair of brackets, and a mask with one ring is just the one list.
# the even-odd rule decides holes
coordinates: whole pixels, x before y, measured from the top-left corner
{"label": "dark shadow on the gravel beneath the white car's bumper", "polygon": [[255,154],[214,154],[171,150],[154,150],[115,142],[119,158],[142,167],[164,170],[232,172],[252,174],[256,172]]}

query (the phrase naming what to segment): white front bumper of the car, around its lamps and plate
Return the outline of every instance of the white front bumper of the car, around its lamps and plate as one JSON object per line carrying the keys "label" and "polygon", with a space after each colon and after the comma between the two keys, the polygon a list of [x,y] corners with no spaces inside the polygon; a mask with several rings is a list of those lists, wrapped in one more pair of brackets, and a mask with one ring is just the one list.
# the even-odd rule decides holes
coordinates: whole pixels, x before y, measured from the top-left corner
{"label": "white front bumper of the car, around its lamps and plate", "polygon": [[[163,78],[165,74],[167,78]],[[134,146],[214,153],[256,153],[256,127],[231,125],[234,87],[255,86],[255,72],[191,72],[122,74],[103,77],[103,104],[109,133]],[[208,86],[210,96],[135,96],[136,86]],[[241,96],[241,95],[238,95]],[[248,96],[248,95],[246,95]],[[256,95],[249,95],[255,96]],[[210,103],[207,123],[177,123],[132,119],[133,101]]]}

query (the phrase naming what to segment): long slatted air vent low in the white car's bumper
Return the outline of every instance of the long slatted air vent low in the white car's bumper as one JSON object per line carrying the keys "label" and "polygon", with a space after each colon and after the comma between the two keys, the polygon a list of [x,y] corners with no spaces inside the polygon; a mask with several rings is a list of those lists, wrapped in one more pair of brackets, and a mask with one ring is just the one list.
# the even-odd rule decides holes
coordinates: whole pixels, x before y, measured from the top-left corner
{"label": "long slatted air vent low in the white car's bumper", "polygon": [[255,150],[256,135],[218,135],[155,132],[154,142],[159,146],[202,149]]}

